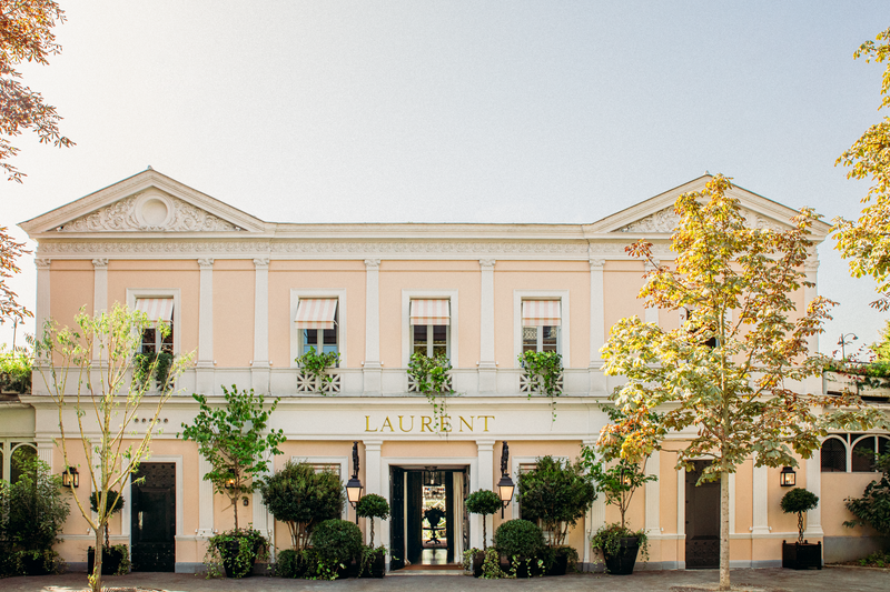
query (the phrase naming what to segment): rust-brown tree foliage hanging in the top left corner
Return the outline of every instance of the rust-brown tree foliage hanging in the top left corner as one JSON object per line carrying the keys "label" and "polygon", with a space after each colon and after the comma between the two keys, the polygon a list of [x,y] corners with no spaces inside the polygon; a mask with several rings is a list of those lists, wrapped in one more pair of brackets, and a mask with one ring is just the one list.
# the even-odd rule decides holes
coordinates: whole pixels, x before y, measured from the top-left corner
{"label": "rust-brown tree foliage hanging in the top left corner", "polygon": [[73,146],[59,131],[62,118],[56,108],[23,86],[21,73],[16,70],[26,61],[46,66],[50,56],[61,53],[52,29],[65,20],[65,11],[55,0],[0,2],[0,169],[9,181],[20,183],[24,177],[8,162],[19,152],[11,138],[22,131],[37,133],[40,143]]}

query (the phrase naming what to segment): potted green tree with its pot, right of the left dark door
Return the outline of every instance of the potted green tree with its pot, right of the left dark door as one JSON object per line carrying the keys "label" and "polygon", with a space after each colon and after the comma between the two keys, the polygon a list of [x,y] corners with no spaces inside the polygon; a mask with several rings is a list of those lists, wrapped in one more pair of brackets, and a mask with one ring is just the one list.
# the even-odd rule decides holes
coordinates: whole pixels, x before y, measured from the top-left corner
{"label": "potted green tree with its pot, right of the left dark door", "polygon": [[259,486],[255,478],[269,466],[265,454],[280,454],[278,444],[286,439],[281,430],[266,432],[277,400],[265,410],[263,395],[254,394],[253,389],[239,391],[233,384],[231,390],[222,387],[222,394],[225,407],[211,407],[207,397],[192,395],[200,408],[191,425],[182,423],[182,439],[197,442],[198,452],[212,466],[204,479],[231,500],[235,528],[208,539],[208,571],[219,573],[221,563],[227,576],[244,578],[253,573],[254,563],[265,556],[269,543],[259,531],[239,526],[238,502]]}

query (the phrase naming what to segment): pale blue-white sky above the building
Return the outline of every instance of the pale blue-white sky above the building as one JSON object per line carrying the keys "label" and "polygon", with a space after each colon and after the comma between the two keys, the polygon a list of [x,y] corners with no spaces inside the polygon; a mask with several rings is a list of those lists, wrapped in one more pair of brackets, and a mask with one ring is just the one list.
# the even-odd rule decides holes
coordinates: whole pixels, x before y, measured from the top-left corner
{"label": "pale blue-white sky above the building", "polygon": [[[705,171],[851,218],[868,184],[834,160],[882,117],[852,53],[890,27],[886,0],[60,4],[62,53],[20,70],[77,146],[16,139],[20,240],[148,165],[274,222],[589,223]],[[878,339],[873,283],[820,258],[822,351]]]}

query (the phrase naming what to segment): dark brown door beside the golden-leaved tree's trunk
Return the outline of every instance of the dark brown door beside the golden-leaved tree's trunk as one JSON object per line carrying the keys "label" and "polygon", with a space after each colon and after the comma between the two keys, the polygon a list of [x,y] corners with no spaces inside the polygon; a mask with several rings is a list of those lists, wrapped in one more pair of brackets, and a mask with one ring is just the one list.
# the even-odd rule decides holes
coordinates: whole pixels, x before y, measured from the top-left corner
{"label": "dark brown door beside the golden-leaved tree's trunk", "polygon": [[694,461],[686,472],[686,569],[720,566],[720,482],[695,485],[711,461]]}

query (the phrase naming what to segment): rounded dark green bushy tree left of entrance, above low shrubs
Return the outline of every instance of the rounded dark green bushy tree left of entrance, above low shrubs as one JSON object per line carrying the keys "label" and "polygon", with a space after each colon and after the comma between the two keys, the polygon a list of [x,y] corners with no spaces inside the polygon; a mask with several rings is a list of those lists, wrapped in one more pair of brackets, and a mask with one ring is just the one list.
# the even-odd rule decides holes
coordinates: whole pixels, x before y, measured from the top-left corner
{"label": "rounded dark green bushy tree left of entrance, above low shrubs", "polygon": [[290,544],[297,551],[306,549],[316,524],[340,516],[346,501],[336,473],[316,473],[312,464],[294,461],[287,461],[280,471],[264,479],[259,491],[275,520],[287,524]]}

